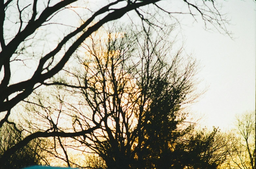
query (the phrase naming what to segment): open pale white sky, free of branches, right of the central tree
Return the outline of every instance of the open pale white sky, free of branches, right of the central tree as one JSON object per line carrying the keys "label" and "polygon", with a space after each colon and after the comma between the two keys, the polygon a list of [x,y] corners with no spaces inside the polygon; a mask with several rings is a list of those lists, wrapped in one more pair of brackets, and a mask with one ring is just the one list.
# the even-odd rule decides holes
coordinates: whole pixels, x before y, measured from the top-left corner
{"label": "open pale white sky, free of branches, right of the central tree", "polygon": [[183,26],[186,51],[201,60],[199,73],[209,90],[192,106],[204,114],[203,125],[227,128],[235,114],[255,110],[256,3],[253,0],[223,2],[222,12],[231,18],[228,30],[234,39],[208,32],[202,23]]}

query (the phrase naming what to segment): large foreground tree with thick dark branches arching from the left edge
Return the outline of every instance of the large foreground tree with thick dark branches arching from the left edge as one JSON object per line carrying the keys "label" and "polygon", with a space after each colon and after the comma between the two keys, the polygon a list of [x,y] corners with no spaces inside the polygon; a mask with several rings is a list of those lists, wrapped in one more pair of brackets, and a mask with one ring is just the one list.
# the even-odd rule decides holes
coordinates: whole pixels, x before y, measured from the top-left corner
{"label": "large foreground tree with thick dark branches arching from the left edge", "polygon": [[[143,6],[148,6],[150,10],[157,9],[159,13],[165,13],[170,17],[174,13],[188,13],[193,17],[199,14],[206,25],[212,24],[218,30],[227,32],[227,20],[217,10],[215,1],[181,0],[187,6],[187,11],[168,11],[159,2],[160,0],[115,0],[106,2],[105,6],[93,7],[90,1],[87,3],[82,0],[1,0],[0,127],[4,123],[13,123],[16,120],[10,120],[10,115],[18,103],[28,102],[27,98],[36,90],[56,85],[47,82],[63,69],[77,48],[93,32],[105,23],[121,18],[129,11],[135,11],[139,18],[148,24],[152,24],[149,17],[153,15],[150,15]],[[70,25],[73,24],[67,21],[70,16],[73,17],[70,18],[70,22],[78,20],[82,24]],[[25,71],[22,72],[23,69]],[[17,79],[17,75],[13,76],[15,71],[22,73],[18,75],[20,79]],[[73,87],[83,88],[75,85]],[[22,113],[18,116],[22,116]],[[102,121],[104,120],[106,119],[103,118]],[[56,127],[56,121],[51,118],[48,118],[48,122],[47,127],[38,126],[38,130],[26,131],[24,139],[6,150],[2,157],[10,156],[33,139],[82,136],[91,133],[101,124],[101,121],[94,121],[93,127],[76,132],[60,130]],[[37,123],[31,125],[36,127]]]}

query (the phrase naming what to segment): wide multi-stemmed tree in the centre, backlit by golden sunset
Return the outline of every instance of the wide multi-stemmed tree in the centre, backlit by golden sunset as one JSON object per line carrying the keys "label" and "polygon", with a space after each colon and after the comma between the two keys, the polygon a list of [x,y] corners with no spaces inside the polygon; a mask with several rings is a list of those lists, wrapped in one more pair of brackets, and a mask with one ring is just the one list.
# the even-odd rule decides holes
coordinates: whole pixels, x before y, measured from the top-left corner
{"label": "wide multi-stemmed tree in the centre, backlit by golden sunset", "polygon": [[[73,78],[62,79],[66,87],[61,90],[78,94],[78,107],[87,107],[87,114],[73,114],[74,126],[84,128],[107,117],[91,134],[74,138],[107,168],[217,168],[226,160],[230,138],[219,130],[189,137],[193,124],[184,122],[182,106],[200,95],[194,92],[197,68],[182,50],[172,50],[172,29],[164,34],[151,27],[130,33],[99,30],[82,44],[85,51],[77,56],[76,69],[65,69],[65,77]],[[84,88],[72,88],[71,81]],[[93,166],[98,165],[87,167]]]}

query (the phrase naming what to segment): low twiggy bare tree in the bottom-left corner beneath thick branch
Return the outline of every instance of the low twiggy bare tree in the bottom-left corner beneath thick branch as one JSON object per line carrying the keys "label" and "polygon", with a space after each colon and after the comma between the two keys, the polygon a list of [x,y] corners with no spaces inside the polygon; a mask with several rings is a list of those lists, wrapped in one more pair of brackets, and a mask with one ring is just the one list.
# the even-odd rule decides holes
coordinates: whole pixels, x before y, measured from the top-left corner
{"label": "low twiggy bare tree in the bottom-left corner beneath thick branch", "polygon": [[[0,157],[22,139],[21,130],[13,125],[4,124],[0,130]],[[0,168],[18,169],[36,164],[47,164],[46,153],[42,151],[46,146],[44,140],[35,139],[10,157],[4,157]]]}

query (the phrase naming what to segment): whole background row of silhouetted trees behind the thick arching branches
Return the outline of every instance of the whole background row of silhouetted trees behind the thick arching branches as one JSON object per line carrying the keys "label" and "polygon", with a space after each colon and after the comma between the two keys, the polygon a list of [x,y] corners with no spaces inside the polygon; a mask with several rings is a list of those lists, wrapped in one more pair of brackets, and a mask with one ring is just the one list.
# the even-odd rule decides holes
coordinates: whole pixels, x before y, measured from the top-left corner
{"label": "whole background row of silhouetted trees behind the thick arching branches", "polygon": [[254,169],[254,113],[230,132],[190,120],[186,106],[204,91],[174,26],[115,25],[92,33],[47,90],[23,100],[19,122],[2,125],[0,168]]}

